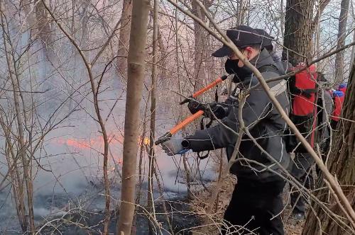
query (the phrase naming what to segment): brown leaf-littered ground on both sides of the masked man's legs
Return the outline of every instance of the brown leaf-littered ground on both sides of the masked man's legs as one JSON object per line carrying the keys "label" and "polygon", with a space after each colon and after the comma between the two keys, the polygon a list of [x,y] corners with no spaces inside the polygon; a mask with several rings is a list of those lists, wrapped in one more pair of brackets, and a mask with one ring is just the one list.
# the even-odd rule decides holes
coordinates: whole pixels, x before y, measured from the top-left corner
{"label": "brown leaf-littered ground on both sides of the masked man's legs", "polygon": [[[208,202],[210,200],[211,194],[207,190],[203,190],[197,195],[197,199],[193,200],[192,208],[193,210],[199,214],[201,220],[201,226],[193,229],[192,234],[219,234],[219,226],[222,222],[224,211],[229,204],[231,199],[231,194],[233,193],[234,185],[236,183],[236,178],[233,176],[229,176],[227,180],[222,183],[222,188],[219,193],[219,200],[217,208],[214,207],[214,214],[213,216],[206,216],[205,210],[207,208]],[[216,183],[212,183],[209,185],[209,188],[214,188]],[[285,187],[283,193],[284,205],[288,202],[288,187]],[[288,219],[288,215],[290,214],[290,205],[285,207],[283,210],[283,219],[284,219],[284,226],[285,226],[285,234],[288,235],[300,235],[302,234],[302,227],[304,221],[300,222],[291,217]],[[287,221],[285,221],[287,219]]]}

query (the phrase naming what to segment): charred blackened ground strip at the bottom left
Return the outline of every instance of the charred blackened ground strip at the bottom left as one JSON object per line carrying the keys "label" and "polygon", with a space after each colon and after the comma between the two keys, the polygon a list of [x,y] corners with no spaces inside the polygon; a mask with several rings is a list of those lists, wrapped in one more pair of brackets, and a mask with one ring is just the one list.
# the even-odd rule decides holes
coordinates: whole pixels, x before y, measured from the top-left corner
{"label": "charred blackened ground strip at the bottom left", "polygon": [[[200,217],[192,211],[192,207],[186,201],[165,202],[166,210],[169,214],[171,227],[163,208],[162,202],[155,205],[156,221],[161,226],[162,234],[170,234],[168,231],[173,230],[173,234],[192,234],[192,227],[201,224]],[[53,218],[55,219],[55,218]],[[65,215],[62,218],[56,218],[55,221],[45,225],[40,234],[65,234],[65,235],[84,235],[84,234],[102,234],[104,212],[84,212],[77,211]],[[136,226],[134,227],[136,234],[148,234],[148,214],[142,208],[138,208],[136,214]],[[43,226],[42,225],[42,226]],[[155,226],[155,229],[158,227]],[[111,222],[109,226],[109,234],[116,232],[116,216],[111,213]],[[160,234],[155,230],[155,234]]]}

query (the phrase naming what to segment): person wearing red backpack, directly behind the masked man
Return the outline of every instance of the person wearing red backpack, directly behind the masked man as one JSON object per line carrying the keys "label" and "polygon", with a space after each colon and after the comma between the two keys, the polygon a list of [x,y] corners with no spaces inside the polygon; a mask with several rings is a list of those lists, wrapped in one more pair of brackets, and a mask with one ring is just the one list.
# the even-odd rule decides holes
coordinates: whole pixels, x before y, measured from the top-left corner
{"label": "person wearing red backpack, directly behind the masked man", "polygon": [[[315,71],[315,67],[313,69]],[[315,81],[317,81],[317,84]],[[312,69],[309,69],[309,71],[296,74],[293,77],[293,82],[290,83],[290,86],[294,86],[290,89],[293,91],[291,92],[293,103],[290,116],[312,147],[316,148],[316,144],[318,144],[322,155],[328,151],[326,145],[327,142],[329,143],[327,114],[332,113],[332,98],[329,92],[322,88],[325,82],[327,80],[321,72],[312,72]],[[295,153],[291,175],[305,188],[313,189],[315,183],[312,166],[315,164],[315,160],[305,148],[299,145],[299,142],[292,144],[291,149]],[[317,173],[320,173],[318,168]],[[301,195],[298,190],[292,187],[290,188],[290,197],[293,218],[296,220],[304,219],[307,197]]]}

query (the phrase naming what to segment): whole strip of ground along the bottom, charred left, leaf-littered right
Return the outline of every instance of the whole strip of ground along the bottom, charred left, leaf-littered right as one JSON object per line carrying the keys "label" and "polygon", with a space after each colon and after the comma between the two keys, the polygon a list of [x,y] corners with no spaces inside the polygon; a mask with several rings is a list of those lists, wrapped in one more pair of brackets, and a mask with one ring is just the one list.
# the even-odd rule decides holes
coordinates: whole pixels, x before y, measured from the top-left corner
{"label": "whole strip of ground along the bottom, charred left, leaf-littered right", "polygon": [[[219,234],[219,226],[222,223],[224,210],[231,197],[236,179],[229,176],[222,184],[222,190],[219,193],[219,201],[217,207],[214,208],[214,214],[206,216],[207,203],[209,202],[210,192],[201,190],[195,193],[195,200],[174,200],[166,201],[165,213],[163,202],[155,202],[156,222],[160,224],[161,234]],[[213,188],[215,183],[211,183],[208,188]],[[288,201],[288,187],[285,187],[284,202]],[[287,203],[285,203],[287,204]],[[286,219],[290,213],[290,206],[285,207],[283,217]],[[167,214],[169,215],[170,225],[168,224]],[[83,210],[73,211],[63,217],[53,217],[42,223],[45,227],[40,234],[102,234],[103,231],[103,211],[85,212]],[[139,207],[136,214],[136,234],[148,234],[148,213],[143,207]],[[157,223],[155,223],[157,224]],[[284,221],[286,234],[300,235],[302,232],[303,222],[297,222],[295,219],[288,218]],[[40,226],[41,227],[41,226]],[[155,226],[155,228],[157,228]],[[168,232],[173,230],[173,232]],[[111,212],[111,222],[109,233],[114,234],[116,231],[116,215]],[[155,234],[160,234],[155,231]]]}

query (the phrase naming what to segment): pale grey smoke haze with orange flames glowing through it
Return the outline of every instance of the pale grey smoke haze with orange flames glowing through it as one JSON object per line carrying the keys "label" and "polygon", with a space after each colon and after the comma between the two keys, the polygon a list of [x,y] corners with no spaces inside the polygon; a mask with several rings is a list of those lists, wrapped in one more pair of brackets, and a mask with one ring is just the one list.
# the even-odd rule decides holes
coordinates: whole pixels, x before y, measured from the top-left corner
{"label": "pale grey smoke haze with orange flames glowing through it", "polygon": [[[20,89],[23,91],[21,100],[26,114],[24,126],[26,127],[26,142],[32,139],[33,151],[32,178],[33,178],[33,207],[36,222],[40,223],[48,216],[60,216],[68,207],[81,206],[91,210],[104,208],[103,191],[103,147],[104,141],[94,113],[91,87],[87,70],[81,57],[70,42],[56,35],[58,42],[53,47],[43,48],[43,43],[36,40],[31,42],[28,50],[28,41],[31,36],[28,31],[22,31],[21,25],[15,21],[9,21],[10,35],[16,41],[13,49],[16,59],[23,60],[18,64],[18,78]],[[0,40],[1,45],[4,41]],[[93,50],[87,53],[94,55]],[[6,64],[4,52],[1,53],[1,64]],[[102,76],[102,84],[99,90],[99,106],[109,136],[109,178],[111,180],[112,197],[120,197],[120,173],[122,164],[123,126],[125,111],[124,79],[116,73],[114,64],[105,69],[107,61],[102,61],[93,69],[94,76]],[[13,93],[10,91],[11,82],[8,78],[7,67],[1,68],[1,87],[9,91],[1,91],[1,113],[6,117],[6,124],[16,117],[13,103]],[[148,76],[147,76],[148,83]],[[148,91],[144,93],[144,99],[148,98]],[[142,103],[139,123],[141,130],[144,117]],[[174,121],[172,108],[158,110],[158,134],[162,134],[168,128],[173,127]],[[146,114],[148,115],[148,113]],[[167,120],[169,120],[167,122]],[[13,123],[13,124],[11,124]],[[13,133],[15,134],[15,133]],[[143,137],[144,136],[144,137]],[[148,147],[148,134],[142,133],[143,144]],[[141,139],[137,139],[137,144]],[[16,144],[16,142],[14,141]],[[4,135],[0,139],[1,151],[6,152],[6,139]],[[38,145],[37,145],[38,144]],[[35,148],[35,146],[37,147]],[[145,151],[146,147],[143,148]],[[32,149],[32,150],[31,150]],[[33,150],[35,149],[35,150]],[[29,152],[27,153],[29,154]],[[160,147],[156,147],[157,164],[160,172],[160,180],[165,188],[166,197],[181,197],[185,195],[187,186],[182,161],[179,157],[170,157],[162,153]],[[0,172],[4,176],[9,170],[6,164],[5,154],[1,154]],[[148,159],[143,156],[143,168],[147,169]],[[196,160],[189,157],[191,168],[196,168]],[[209,161],[200,164],[202,173],[195,170],[195,180],[212,180],[214,173]],[[146,181],[147,170],[143,170],[143,178]],[[0,191],[0,227],[3,231],[8,229],[18,230],[15,204],[11,192],[11,181],[6,180],[4,188]],[[158,196],[158,193],[157,193]]]}

